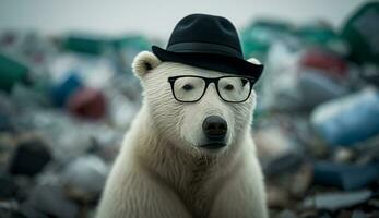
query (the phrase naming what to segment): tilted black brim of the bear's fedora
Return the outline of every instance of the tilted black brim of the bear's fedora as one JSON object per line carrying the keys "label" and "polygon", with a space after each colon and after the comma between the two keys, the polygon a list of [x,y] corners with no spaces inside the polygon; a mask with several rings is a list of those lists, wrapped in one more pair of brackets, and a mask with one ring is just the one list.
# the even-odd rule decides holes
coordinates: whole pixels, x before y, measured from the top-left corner
{"label": "tilted black brim of the bear's fedora", "polygon": [[250,63],[244,59],[229,56],[208,52],[173,52],[157,46],[152,46],[152,51],[161,61],[178,62],[206,70],[251,76],[256,81],[263,71],[262,64]]}

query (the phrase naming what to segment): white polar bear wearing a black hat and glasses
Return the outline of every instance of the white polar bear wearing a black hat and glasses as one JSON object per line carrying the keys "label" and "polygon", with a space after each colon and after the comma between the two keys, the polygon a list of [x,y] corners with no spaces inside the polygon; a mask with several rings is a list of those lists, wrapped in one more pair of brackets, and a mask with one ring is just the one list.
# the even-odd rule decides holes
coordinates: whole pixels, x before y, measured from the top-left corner
{"label": "white polar bear wearing a black hat and glasses", "polygon": [[[268,217],[250,135],[256,93],[244,102],[226,102],[211,83],[199,101],[179,102],[168,77],[228,74],[162,62],[149,51],[139,53],[132,68],[144,100],[106,182],[97,218]],[[211,116],[227,125],[225,146],[217,149],[199,147]]]}

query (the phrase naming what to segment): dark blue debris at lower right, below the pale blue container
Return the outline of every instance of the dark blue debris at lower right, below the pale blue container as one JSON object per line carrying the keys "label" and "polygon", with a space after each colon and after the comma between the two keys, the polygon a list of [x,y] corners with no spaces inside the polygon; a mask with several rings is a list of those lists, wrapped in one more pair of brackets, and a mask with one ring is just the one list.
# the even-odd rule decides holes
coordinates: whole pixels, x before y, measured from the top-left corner
{"label": "dark blue debris at lower right, below the pale blue container", "polygon": [[316,184],[358,190],[379,179],[379,162],[360,165],[319,161],[315,164]]}

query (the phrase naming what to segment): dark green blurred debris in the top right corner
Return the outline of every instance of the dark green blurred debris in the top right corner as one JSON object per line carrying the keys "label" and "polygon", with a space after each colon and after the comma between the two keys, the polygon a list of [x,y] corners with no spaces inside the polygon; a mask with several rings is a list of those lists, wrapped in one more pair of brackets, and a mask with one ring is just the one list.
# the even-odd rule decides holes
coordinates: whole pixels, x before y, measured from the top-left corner
{"label": "dark green blurred debris in the top right corner", "polygon": [[379,2],[359,8],[346,22],[342,37],[348,41],[351,58],[357,63],[379,65]]}

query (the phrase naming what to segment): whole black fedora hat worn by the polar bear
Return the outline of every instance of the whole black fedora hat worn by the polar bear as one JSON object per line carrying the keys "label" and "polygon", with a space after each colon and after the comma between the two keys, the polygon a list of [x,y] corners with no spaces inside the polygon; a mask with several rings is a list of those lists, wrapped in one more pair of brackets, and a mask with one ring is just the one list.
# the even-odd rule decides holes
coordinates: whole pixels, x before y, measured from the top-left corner
{"label": "whole black fedora hat worn by the polar bear", "polygon": [[263,71],[262,64],[244,60],[237,31],[222,16],[188,15],[175,26],[166,50],[157,46],[152,50],[162,61],[252,76],[256,81]]}

